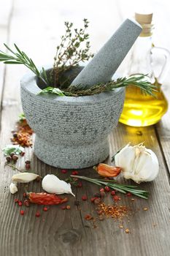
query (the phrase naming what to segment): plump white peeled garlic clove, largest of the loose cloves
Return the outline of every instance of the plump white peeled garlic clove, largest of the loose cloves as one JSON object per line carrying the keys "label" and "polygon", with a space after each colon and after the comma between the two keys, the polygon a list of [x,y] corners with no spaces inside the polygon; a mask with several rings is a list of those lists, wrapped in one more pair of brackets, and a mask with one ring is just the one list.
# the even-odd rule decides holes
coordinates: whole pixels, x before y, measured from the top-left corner
{"label": "plump white peeled garlic clove, largest of the loose cloves", "polygon": [[[73,194],[71,184],[66,181],[61,181],[57,176],[53,174],[47,174],[42,179],[42,188],[51,194]],[[75,196],[75,195],[74,195]]]}

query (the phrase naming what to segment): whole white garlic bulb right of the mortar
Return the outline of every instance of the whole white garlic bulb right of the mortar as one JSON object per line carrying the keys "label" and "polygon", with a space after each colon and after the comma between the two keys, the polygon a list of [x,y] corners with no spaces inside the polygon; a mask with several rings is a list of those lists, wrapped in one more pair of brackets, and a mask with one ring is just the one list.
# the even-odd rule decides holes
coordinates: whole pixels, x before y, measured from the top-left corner
{"label": "whole white garlic bulb right of the mortar", "polygon": [[143,143],[122,148],[115,155],[115,165],[122,168],[124,178],[131,178],[136,183],[154,180],[159,171],[158,158]]}

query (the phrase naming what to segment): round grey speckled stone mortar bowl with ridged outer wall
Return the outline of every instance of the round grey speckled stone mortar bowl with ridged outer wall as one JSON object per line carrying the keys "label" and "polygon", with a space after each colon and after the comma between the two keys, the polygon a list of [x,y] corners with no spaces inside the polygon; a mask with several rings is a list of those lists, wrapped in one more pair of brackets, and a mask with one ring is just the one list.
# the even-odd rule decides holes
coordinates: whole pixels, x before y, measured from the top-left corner
{"label": "round grey speckled stone mortar bowl with ridged outer wall", "polygon": [[21,80],[21,101],[36,133],[34,152],[48,165],[84,168],[109,155],[108,135],[123,109],[124,89],[85,97],[37,95],[36,77]]}

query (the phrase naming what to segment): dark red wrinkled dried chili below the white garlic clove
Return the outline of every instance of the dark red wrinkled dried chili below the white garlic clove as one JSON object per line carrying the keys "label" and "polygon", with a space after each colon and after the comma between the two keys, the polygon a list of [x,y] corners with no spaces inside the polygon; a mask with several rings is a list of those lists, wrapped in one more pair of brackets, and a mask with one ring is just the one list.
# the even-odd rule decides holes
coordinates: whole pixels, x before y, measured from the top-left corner
{"label": "dark red wrinkled dried chili below the white garlic clove", "polygon": [[65,203],[68,201],[67,197],[61,198],[53,194],[34,193],[34,192],[28,193],[28,199],[30,203],[36,203],[36,204],[45,205],[45,206],[58,205],[60,203]]}

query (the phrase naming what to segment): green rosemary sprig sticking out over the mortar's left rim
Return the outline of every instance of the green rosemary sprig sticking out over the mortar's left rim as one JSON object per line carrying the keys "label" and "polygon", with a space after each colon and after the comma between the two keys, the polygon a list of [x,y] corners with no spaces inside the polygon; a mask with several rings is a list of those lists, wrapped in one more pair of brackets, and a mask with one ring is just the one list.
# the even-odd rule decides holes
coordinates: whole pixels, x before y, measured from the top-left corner
{"label": "green rosemary sprig sticking out over the mortar's left rim", "polygon": [[45,69],[42,67],[42,70],[39,71],[39,69],[37,69],[36,65],[32,61],[32,59],[28,58],[26,53],[20,50],[17,45],[15,45],[15,50],[17,50],[17,52],[13,51],[6,44],[4,44],[4,46],[7,48],[7,50],[9,50],[10,53],[12,53],[12,55],[4,53],[0,50],[0,61],[3,61],[4,64],[23,64],[26,67],[28,67],[28,69],[31,69],[31,71],[34,72],[34,74],[40,80],[42,80],[46,84],[46,86],[49,84]]}

